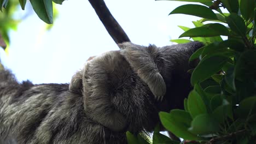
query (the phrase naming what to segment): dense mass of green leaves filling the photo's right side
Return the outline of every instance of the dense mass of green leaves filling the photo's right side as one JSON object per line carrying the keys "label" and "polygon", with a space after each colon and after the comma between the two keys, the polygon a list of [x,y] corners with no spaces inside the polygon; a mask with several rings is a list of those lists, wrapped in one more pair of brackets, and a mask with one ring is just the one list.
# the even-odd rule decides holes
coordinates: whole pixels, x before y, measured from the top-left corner
{"label": "dense mass of green leaves filling the photo's right side", "polygon": [[[184,110],[160,112],[162,125],[184,139],[181,143],[256,143],[256,1],[172,1],[202,4],[182,5],[170,14],[202,17],[193,21],[195,28],[179,26],[184,30],[180,38],[205,46],[190,57],[200,62],[191,75],[194,89],[184,100]],[[180,142],[155,131],[153,143]]]}

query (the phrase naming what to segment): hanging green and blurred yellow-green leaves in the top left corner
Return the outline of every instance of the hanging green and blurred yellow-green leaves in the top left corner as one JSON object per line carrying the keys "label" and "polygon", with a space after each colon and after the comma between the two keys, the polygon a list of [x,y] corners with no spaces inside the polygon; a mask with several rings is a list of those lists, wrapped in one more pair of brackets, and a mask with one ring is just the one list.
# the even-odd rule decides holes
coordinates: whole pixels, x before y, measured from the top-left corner
{"label": "hanging green and blurred yellow-green leaves in the top left corner", "polygon": [[[53,2],[43,2],[43,1],[30,1],[34,11],[40,19],[43,19],[46,23],[53,23],[53,19],[57,16],[57,9]],[[62,0],[54,0],[54,2],[61,4]],[[8,37],[8,32],[10,30],[16,30],[22,18],[15,17],[15,13],[18,11],[18,5],[24,10],[26,5],[26,0],[0,0],[0,11],[3,13],[0,15],[0,47],[5,49],[10,42]],[[4,9],[3,9],[4,8]],[[53,13],[54,12],[54,13]],[[45,15],[47,15],[45,17]],[[48,19],[51,17],[51,19]],[[50,29],[53,25],[46,25],[46,29]]]}

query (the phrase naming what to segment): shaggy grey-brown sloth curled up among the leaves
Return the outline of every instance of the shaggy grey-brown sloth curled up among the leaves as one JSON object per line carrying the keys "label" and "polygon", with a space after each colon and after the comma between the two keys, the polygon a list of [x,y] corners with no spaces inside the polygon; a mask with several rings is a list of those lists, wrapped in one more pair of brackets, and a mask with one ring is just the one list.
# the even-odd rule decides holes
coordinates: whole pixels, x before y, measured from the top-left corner
{"label": "shaggy grey-brown sloth curled up among the leaves", "polygon": [[0,70],[0,142],[127,143],[125,132],[153,131],[158,112],[182,109],[188,59],[199,42],[119,45],[92,57],[65,84],[19,83]]}

